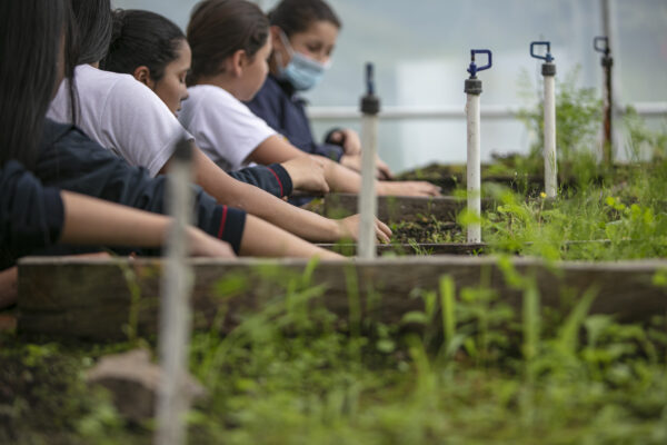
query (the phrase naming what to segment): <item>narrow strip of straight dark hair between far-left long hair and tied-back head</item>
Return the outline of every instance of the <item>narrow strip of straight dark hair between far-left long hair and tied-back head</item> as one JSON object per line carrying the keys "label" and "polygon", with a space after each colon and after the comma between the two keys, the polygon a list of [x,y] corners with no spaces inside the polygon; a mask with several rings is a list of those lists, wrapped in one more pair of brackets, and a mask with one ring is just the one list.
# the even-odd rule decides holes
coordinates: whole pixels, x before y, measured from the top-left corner
{"label": "narrow strip of straight dark hair between far-left long hair and tied-back head", "polygon": [[102,60],[111,40],[111,0],[70,0],[79,36],[77,65]]}

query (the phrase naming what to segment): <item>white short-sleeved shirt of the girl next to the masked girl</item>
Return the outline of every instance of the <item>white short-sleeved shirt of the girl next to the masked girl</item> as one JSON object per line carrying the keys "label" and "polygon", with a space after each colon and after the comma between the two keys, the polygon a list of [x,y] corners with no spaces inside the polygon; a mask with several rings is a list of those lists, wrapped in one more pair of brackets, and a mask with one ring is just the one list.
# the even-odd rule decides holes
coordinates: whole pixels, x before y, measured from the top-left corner
{"label": "white short-sleeved shirt of the girl next to the masked girl", "polygon": [[276,130],[225,89],[211,85],[188,88],[190,97],[178,115],[182,126],[223,170],[248,166],[248,156]]}

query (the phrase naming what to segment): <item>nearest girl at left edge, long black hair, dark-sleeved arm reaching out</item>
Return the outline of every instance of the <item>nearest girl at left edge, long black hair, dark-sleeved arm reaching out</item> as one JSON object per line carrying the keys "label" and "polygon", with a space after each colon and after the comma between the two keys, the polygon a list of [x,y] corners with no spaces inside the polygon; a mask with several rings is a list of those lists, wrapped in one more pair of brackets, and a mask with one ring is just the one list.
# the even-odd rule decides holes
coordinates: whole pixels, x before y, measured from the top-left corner
{"label": "nearest girl at left edge, long black hair, dark-sleeved arm reaching out", "polygon": [[[169,219],[44,187],[29,170],[41,165],[44,113],[60,78],[61,53],[73,47],[61,0],[0,3],[0,308],[17,298],[18,258],[54,244],[159,247]],[[29,33],[23,32],[31,29]],[[229,246],[190,228],[192,255],[233,256]],[[9,269],[7,269],[9,267]]]}

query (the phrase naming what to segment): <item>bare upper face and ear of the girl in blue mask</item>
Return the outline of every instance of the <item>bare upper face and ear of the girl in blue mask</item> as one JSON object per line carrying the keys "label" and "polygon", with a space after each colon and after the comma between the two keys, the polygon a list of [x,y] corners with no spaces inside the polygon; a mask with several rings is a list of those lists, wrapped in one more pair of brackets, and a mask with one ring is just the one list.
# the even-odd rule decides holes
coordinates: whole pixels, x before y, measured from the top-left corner
{"label": "bare upper face and ear of the girl in blue mask", "polygon": [[[287,67],[291,60],[288,48],[285,47],[280,38],[280,30],[271,32],[275,51],[280,52],[279,60],[282,61],[282,68]],[[300,52],[321,65],[326,65],[331,58],[336,40],[338,39],[338,28],[329,21],[316,21],[305,32],[292,34],[289,43],[293,51]]]}

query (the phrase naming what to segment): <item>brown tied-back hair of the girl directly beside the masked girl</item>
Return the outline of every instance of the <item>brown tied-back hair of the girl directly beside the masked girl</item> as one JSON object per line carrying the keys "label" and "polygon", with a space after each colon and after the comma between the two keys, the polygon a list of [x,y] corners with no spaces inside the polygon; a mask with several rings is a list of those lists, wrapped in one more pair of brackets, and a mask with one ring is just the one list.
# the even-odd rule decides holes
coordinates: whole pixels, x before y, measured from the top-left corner
{"label": "brown tied-back hair of the girl directly beside the masked girl", "polygon": [[255,57],[269,37],[269,20],[255,3],[246,0],[205,0],[195,7],[188,24],[192,70],[188,85],[215,76],[222,62],[238,50]]}

